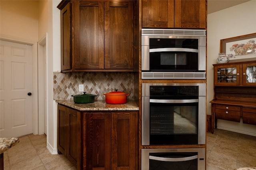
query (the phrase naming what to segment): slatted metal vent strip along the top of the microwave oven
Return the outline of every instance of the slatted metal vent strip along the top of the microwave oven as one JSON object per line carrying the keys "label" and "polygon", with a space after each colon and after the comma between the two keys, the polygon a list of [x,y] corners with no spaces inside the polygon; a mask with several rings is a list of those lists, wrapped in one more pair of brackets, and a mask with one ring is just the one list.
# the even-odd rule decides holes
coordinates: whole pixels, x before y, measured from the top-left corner
{"label": "slatted metal vent strip along the top of the microwave oven", "polygon": [[205,29],[142,29],[142,35],[200,35],[206,36]]}

